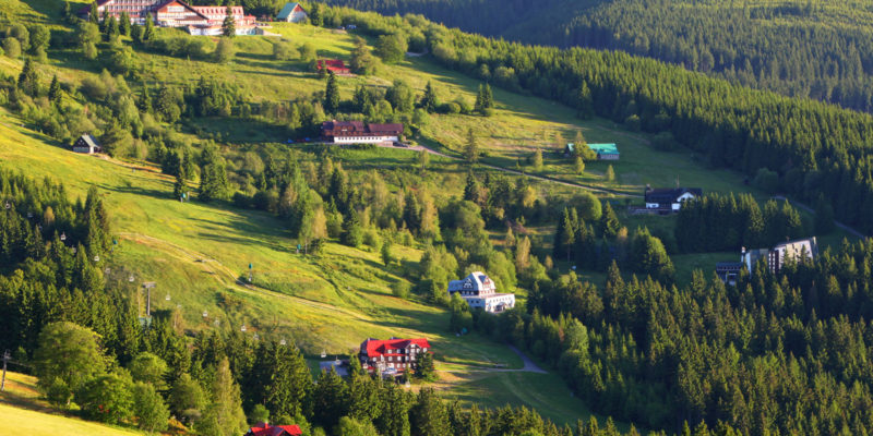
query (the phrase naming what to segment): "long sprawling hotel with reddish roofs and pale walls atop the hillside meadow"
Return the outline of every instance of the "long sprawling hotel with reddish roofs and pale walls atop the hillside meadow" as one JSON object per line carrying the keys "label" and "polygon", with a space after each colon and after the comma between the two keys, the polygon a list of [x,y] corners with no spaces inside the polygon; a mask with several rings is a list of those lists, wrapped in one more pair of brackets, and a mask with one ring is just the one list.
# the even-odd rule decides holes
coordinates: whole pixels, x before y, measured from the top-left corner
{"label": "long sprawling hotel with reddish roofs and pale walls atop the hillside meadow", "polygon": [[[220,35],[227,7],[190,5],[181,0],[97,0],[97,14],[120,19],[127,12],[131,23],[145,24],[148,16],[162,27],[186,27],[192,35]],[[242,7],[231,7],[237,35],[254,34],[254,16],[246,15]],[[86,17],[89,7],[80,10]]]}

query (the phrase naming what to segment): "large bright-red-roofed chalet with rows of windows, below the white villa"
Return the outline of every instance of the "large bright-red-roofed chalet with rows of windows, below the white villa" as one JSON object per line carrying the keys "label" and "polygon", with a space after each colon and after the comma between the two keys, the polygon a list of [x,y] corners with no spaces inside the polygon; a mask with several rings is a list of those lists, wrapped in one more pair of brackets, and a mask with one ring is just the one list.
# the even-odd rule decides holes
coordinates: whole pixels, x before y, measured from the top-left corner
{"label": "large bright-red-roofed chalet with rows of windows, below the white villa", "polygon": [[369,338],[361,342],[358,356],[361,367],[367,371],[385,373],[404,372],[418,367],[420,355],[430,351],[430,343],[424,338],[379,340]]}

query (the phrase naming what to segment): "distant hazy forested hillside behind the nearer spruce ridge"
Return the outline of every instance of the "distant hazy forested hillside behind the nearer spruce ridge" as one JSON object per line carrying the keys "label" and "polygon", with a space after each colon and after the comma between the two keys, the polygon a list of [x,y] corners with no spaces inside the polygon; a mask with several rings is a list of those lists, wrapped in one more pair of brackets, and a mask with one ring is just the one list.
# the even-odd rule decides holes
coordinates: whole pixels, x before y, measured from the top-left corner
{"label": "distant hazy forested hillside behind the nearer spruce ridge", "polygon": [[[332,0],[527,44],[622,50],[733,83],[873,110],[870,2]],[[481,20],[488,16],[488,20]]]}

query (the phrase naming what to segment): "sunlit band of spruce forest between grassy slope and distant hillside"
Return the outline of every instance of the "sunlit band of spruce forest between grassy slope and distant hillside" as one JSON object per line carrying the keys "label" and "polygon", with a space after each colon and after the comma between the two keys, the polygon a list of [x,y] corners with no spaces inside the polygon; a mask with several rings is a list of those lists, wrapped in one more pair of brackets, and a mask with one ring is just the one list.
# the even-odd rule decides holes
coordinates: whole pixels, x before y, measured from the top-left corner
{"label": "sunlit band of spruce forest between grassy slope and distant hillside", "polygon": [[702,165],[775,172],[774,192],[813,203],[873,229],[873,117],[784,97],[620,51],[526,46],[447,29],[411,15],[328,11],[373,35],[426,39],[441,64],[504,88],[575,107],[631,129],[667,134]]}

